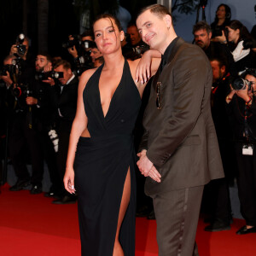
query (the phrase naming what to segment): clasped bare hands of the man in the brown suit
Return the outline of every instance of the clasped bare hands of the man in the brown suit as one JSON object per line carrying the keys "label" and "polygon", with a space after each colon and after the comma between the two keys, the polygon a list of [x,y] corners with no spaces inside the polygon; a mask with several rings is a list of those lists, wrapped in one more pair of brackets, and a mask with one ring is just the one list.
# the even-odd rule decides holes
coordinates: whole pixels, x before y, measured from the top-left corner
{"label": "clasped bare hands of the man in the brown suit", "polygon": [[151,177],[154,179],[156,182],[160,183],[160,173],[156,170],[154,167],[153,163],[148,160],[148,157],[146,155],[146,150],[143,150],[141,153],[138,153],[137,156],[140,157],[140,160],[137,161],[137,166],[140,170],[140,172],[145,176],[145,177]]}

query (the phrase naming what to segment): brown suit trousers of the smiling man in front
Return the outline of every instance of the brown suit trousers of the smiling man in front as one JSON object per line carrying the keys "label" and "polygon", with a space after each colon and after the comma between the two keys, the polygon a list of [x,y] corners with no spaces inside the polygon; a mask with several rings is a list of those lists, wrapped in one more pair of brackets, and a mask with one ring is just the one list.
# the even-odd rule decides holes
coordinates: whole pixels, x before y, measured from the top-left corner
{"label": "brown suit trousers of the smiling man in front", "polygon": [[195,234],[204,186],[153,196],[159,256],[199,255]]}

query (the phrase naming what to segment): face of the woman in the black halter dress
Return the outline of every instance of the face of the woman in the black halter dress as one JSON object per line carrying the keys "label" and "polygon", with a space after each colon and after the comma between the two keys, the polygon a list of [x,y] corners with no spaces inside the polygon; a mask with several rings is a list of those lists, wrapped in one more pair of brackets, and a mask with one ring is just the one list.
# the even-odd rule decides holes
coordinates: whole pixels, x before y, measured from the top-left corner
{"label": "face of the woman in the black halter dress", "polygon": [[111,18],[97,20],[93,26],[95,42],[102,55],[115,52],[121,47],[124,32],[119,32],[118,27]]}

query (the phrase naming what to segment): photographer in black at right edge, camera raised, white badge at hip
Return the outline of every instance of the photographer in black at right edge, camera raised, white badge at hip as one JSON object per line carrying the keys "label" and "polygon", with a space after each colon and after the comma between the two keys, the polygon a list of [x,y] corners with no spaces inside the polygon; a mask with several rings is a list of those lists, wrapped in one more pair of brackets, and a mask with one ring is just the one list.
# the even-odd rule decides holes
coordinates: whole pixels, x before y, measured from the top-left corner
{"label": "photographer in black at right edge, camera raised, white badge at hip", "polygon": [[241,214],[246,225],[236,234],[256,233],[256,69],[233,81],[226,108],[236,138],[236,176]]}

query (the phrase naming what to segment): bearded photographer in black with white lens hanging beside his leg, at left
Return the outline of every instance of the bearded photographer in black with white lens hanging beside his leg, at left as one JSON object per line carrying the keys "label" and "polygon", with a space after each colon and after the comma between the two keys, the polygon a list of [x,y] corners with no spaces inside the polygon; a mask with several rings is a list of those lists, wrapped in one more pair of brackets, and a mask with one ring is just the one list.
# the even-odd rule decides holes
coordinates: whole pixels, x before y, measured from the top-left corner
{"label": "bearded photographer in black with white lens hanging beside his leg, at left", "polygon": [[46,197],[54,197],[61,189],[60,176],[57,172],[56,152],[58,150],[58,137],[55,131],[55,104],[50,97],[49,76],[56,76],[52,72],[52,61],[47,53],[39,52],[35,61],[36,83],[38,90],[38,124],[40,148],[44,153],[44,160],[48,166],[51,187]]}

